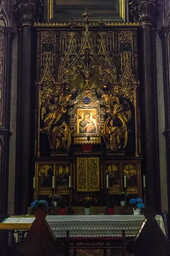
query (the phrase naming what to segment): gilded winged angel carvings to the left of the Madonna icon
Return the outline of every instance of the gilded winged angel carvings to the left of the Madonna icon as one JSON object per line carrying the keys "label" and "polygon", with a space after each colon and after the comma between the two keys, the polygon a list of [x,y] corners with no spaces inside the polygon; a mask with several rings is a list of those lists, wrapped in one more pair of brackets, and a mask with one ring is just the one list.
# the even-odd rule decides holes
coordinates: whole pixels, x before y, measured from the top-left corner
{"label": "gilded winged angel carvings to the left of the Madonna icon", "polygon": [[[40,132],[48,135],[48,141],[52,150],[58,148],[69,149],[71,145],[71,131],[64,120],[60,120],[62,114],[67,111],[70,95],[63,92],[57,96],[48,98],[41,108],[43,127]],[[45,118],[44,118],[45,116]]]}

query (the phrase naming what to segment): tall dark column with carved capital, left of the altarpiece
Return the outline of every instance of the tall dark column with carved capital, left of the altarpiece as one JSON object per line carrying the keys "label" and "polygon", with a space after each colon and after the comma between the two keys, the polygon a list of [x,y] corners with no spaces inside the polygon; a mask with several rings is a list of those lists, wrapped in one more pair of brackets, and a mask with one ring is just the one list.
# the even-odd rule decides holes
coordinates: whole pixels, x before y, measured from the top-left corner
{"label": "tall dark column with carved capital, left of the altarpiece", "polygon": [[32,199],[34,174],[34,110],[36,80],[36,1],[21,0],[15,14],[19,23],[18,85],[17,85],[17,154],[15,213],[27,213]]}

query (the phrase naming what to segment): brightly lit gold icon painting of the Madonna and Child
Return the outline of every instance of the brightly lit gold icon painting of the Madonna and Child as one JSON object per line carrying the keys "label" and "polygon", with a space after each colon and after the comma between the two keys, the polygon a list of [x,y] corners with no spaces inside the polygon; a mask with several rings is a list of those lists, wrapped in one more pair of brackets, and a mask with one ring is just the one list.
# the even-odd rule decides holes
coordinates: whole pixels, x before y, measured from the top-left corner
{"label": "brightly lit gold icon painting of the Madonna and Child", "polygon": [[[82,120],[79,122],[79,119]],[[78,123],[78,133],[96,133],[96,110],[94,110],[94,113],[90,113],[88,110],[87,112],[82,113],[82,110],[78,110]]]}

